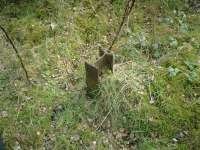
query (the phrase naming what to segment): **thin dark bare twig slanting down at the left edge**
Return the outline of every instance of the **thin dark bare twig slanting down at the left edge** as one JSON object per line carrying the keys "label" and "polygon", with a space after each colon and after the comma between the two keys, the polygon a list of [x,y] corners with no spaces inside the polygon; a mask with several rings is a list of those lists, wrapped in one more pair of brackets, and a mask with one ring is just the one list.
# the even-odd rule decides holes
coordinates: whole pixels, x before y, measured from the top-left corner
{"label": "thin dark bare twig slanting down at the left edge", "polygon": [[26,67],[25,67],[25,65],[24,65],[24,63],[23,63],[23,60],[22,60],[22,58],[21,58],[21,56],[20,56],[20,54],[19,54],[17,48],[15,47],[13,41],[12,41],[11,38],[9,37],[8,33],[6,32],[6,30],[5,30],[1,25],[0,25],[0,29],[4,32],[6,38],[8,39],[8,41],[10,42],[10,44],[12,45],[12,47],[13,47],[15,53],[16,53],[16,56],[17,56],[17,58],[19,59],[19,62],[20,62],[20,64],[21,64],[21,66],[22,66],[22,69],[23,69],[24,72],[25,72],[26,79],[27,79],[28,83],[30,84],[31,81],[30,81],[30,78],[29,78],[29,76],[28,76],[28,72],[27,72],[27,70],[26,70]]}

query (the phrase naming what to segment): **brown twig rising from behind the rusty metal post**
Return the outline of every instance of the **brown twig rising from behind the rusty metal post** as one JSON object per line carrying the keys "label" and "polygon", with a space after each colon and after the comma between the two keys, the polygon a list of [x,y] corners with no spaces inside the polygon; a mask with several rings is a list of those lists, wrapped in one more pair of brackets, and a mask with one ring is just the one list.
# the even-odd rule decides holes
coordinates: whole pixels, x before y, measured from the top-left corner
{"label": "brown twig rising from behind the rusty metal post", "polygon": [[120,26],[119,26],[119,29],[117,30],[116,32],[116,35],[110,45],[110,47],[108,48],[108,51],[111,51],[113,45],[115,44],[115,42],[117,41],[118,37],[119,37],[119,34],[120,32],[122,31],[122,28],[128,18],[128,16],[130,15],[133,7],[134,7],[134,4],[135,4],[135,1],[136,0],[128,0],[127,4],[126,4],[126,7],[125,7],[125,12],[124,12],[124,15],[123,15],[123,18],[122,18],[122,21],[120,23]]}

